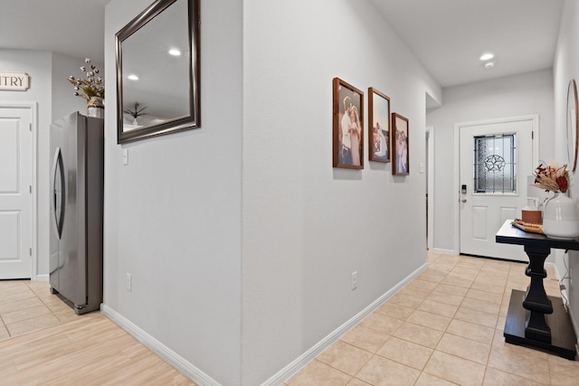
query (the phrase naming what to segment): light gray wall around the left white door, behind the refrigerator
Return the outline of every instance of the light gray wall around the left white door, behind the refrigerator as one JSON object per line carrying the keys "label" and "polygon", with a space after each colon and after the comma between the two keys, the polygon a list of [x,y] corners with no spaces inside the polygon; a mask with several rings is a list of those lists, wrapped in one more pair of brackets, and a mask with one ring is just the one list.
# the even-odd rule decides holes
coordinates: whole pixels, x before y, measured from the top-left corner
{"label": "light gray wall around the left white door, behind the refrigerator", "polygon": [[[49,174],[51,165],[50,125],[60,118],[62,111],[68,113],[83,106],[82,99],[72,95],[72,85],[66,80],[66,71],[72,71],[71,61],[49,51],[1,50],[0,70],[26,72],[30,76],[30,88],[26,91],[0,90],[0,102],[32,102],[37,106],[36,133],[36,192],[37,192],[37,247],[35,278],[48,278],[50,202]],[[80,64],[79,64],[80,66]],[[78,67],[77,67],[78,68]],[[80,70],[79,70],[80,71]],[[79,99],[76,102],[74,99]],[[34,275],[31,272],[31,275]]]}

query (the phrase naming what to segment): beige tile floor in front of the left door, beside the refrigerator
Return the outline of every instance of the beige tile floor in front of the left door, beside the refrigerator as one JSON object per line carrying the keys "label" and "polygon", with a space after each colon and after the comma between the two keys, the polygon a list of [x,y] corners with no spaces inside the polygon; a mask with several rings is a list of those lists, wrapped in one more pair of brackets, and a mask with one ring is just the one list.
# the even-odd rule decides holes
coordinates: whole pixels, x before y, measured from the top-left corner
{"label": "beige tile floor in front of the left door, beside the refrigerator", "polygon": [[47,281],[0,280],[0,341],[78,317]]}

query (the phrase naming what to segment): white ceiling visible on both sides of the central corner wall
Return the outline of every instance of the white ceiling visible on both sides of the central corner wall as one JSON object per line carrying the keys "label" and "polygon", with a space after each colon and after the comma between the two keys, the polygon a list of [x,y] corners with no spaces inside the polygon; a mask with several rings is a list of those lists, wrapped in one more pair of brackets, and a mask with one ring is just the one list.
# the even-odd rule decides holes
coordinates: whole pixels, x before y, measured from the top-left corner
{"label": "white ceiling visible on both sides of the central corner wall", "polygon": [[[552,67],[563,0],[369,1],[442,87]],[[0,0],[0,48],[103,62],[107,3]],[[479,61],[487,51],[492,69]]]}

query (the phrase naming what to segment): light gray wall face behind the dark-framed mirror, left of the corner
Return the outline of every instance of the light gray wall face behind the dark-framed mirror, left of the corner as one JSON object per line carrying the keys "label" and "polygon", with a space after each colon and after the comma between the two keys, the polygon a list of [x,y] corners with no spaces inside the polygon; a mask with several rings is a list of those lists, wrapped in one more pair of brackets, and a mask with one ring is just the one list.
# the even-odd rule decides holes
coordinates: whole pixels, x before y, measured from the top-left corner
{"label": "light gray wall face behind the dark-framed mirror, left of the corner", "polygon": [[242,5],[201,1],[201,128],[119,146],[115,33],[150,3],[111,0],[105,11],[104,303],[214,380],[236,385]]}

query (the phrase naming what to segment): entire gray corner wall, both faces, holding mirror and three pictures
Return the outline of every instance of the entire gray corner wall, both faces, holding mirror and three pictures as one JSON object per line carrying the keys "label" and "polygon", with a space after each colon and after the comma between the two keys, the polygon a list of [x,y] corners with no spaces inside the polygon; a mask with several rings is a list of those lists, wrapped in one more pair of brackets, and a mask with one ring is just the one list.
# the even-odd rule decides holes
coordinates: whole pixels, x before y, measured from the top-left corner
{"label": "entire gray corner wall, both faces, holding mirror and three pictures", "polygon": [[[107,6],[107,74],[148,4],[126,3]],[[202,128],[118,146],[107,114],[105,304],[214,380],[255,385],[425,263],[424,96],[441,91],[367,1],[201,7]],[[410,119],[409,176],[367,155],[332,168],[336,76]]]}

